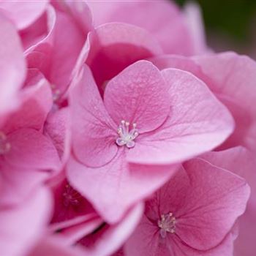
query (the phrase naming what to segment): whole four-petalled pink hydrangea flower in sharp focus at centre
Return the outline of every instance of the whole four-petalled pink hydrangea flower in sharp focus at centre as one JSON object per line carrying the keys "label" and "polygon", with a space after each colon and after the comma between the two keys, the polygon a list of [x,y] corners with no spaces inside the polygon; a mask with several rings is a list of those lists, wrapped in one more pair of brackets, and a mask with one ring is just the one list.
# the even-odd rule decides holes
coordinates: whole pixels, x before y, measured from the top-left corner
{"label": "whole four-petalled pink hydrangea flower in sharp focus at centre", "polygon": [[228,111],[187,72],[138,61],[110,80],[104,101],[87,67],[75,83],[67,176],[108,222],[233,131]]}

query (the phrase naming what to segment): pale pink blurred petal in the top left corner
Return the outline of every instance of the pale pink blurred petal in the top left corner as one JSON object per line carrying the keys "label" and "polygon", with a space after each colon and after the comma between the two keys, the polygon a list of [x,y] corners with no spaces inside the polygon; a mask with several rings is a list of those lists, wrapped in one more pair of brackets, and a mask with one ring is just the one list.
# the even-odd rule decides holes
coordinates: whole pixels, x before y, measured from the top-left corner
{"label": "pale pink blurred petal in the top left corner", "polygon": [[18,29],[25,29],[45,11],[48,0],[1,1],[0,8],[15,23]]}

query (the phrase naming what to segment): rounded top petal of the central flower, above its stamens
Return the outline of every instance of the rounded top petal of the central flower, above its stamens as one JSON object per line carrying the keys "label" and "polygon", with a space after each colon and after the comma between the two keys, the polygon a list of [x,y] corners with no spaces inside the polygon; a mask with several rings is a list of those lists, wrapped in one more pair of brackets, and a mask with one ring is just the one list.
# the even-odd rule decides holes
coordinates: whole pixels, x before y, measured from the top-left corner
{"label": "rounded top petal of the central flower, above its stamens", "polygon": [[136,123],[139,133],[159,127],[170,112],[165,81],[148,61],[138,61],[110,80],[104,102],[116,124]]}

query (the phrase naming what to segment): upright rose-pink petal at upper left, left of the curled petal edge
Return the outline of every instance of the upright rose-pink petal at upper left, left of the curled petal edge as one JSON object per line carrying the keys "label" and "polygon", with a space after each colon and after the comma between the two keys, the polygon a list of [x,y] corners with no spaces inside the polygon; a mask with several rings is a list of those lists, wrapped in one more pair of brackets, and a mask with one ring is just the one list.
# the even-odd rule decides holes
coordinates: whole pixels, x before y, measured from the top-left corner
{"label": "upright rose-pink petal at upper left, left of the curled petal edge", "polygon": [[[81,2],[80,4],[86,5]],[[70,5],[75,8],[76,4],[71,2]],[[82,13],[77,10],[80,15],[89,17],[88,8],[82,8],[80,11]],[[75,67],[84,42],[86,42],[89,30],[82,29],[76,20],[78,17],[70,15],[68,10],[66,12],[56,11],[56,15],[49,80],[63,93],[70,83],[72,69]]]}

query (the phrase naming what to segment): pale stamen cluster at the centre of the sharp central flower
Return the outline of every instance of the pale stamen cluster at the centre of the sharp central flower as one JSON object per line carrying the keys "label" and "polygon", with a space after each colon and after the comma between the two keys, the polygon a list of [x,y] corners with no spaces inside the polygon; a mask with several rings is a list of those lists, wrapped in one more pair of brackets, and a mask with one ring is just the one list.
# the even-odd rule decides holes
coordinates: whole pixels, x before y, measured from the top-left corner
{"label": "pale stamen cluster at the centre of the sharp central flower", "polygon": [[138,137],[139,132],[136,129],[136,124],[132,124],[132,129],[129,131],[129,122],[121,121],[121,124],[118,126],[117,133],[119,137],[116,139],[116,144],[118,146],[127,146],[127,148],[133,148],[135,146],[135,138]]}

